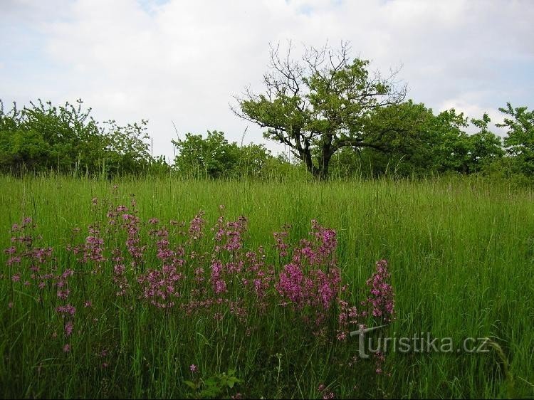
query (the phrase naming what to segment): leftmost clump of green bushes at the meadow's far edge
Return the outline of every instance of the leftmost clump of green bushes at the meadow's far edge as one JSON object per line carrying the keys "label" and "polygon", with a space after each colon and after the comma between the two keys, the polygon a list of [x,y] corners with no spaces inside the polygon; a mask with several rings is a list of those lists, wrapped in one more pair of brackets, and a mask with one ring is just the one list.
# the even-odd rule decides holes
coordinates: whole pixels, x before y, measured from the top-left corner
{"label": "leftmost clump of green bushes at the meadow's far edge", "polygon": [[161,170],[164,159],[151,157],[147,121],[99,124],[77,105],[30,102],[6,112],[0,100],[0,171],[55,171],[63,174],[117,175]]}

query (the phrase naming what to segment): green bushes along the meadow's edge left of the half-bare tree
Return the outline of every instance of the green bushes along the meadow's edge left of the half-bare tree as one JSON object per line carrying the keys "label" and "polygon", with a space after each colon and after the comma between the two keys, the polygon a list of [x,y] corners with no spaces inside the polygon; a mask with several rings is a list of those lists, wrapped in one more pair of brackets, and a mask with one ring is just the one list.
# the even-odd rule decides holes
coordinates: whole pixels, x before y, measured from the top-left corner
{"label": "green bushes along the meadow's edge left of the half-bare tree", "polygon": [[172,141],[178,150],[173,164],[152,156],[147,121],[117,125],[97,122],[83,101],[63,106],[30,102],[6,110],[0,100],[0,172],[113,177],[130,174],[182,174],[186,177],[271,177],[295,166],[273,157],[261,144],[238,146],[222,132],[187,134]]}

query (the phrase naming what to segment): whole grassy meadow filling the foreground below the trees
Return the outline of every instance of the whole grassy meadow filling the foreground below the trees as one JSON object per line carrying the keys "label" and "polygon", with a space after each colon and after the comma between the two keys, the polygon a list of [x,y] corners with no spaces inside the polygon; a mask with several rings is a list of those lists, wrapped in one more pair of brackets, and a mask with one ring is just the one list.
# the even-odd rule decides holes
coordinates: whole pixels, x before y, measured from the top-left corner
{"label": "whole grassy meadow filling the foreground below the trees", "polygon": [[[63,177],[1,177],[0,187],[0,245],[16,246],[16,253],[0,256],[3,398],[534,396],[530,189],[476,179],[260,183]],[[210,227],[217,223],[219,205],[225,206],[224,224],[239,216],[248,221],[246,232],[239,223],[219,224],[234,228],[235,235],[228,236],[235,236],[241,247],[217,253],[216,231]],[[137,216],[117,214],[118,223],[132,225],[106,233],[108,221],[115,218],[106,213],[119,206],[128,207],[124,212],[129,215],[138,209]],[[206,221],[199,238],[193,237],[195,223],[189,225],[195,216]],[[23,222],[25,217],[31,221]],[[274,280],[290,254],[280,256],[273,233],[289,224],[289,249],[298,248],[299,239],[310,238],[314,219],[325,227],[315,233],[335,231],[337,248],[325,251],[317,265],[310,261],[306,271],[313,274],[313,265],[323,270],[326,265],[331,274],[337,267],[340,286],[348,284],[348,289],[334,293],[328,305],[281,302],[287,292]],[[132,226],[133,236],[121,236]],[[163,256],[156,256],[164,245],[155,244],[152,226],[169,228],[169,242],[189,251],[184,269],[176,271],[183,294],[175,306],[169,296],[150,292],[152,275],[142,275],[165,264]],[[73,234],[73,228],[80,231]],[[31,236],[31,243],[11,241],[25,236]],[[90,247],[88,236],[104,243]],[[125,246],[134,236],[138,241]],[[147,248],[136,256],[132,247],[143,243]],[[24,253],[48,246],[51,255]],[[260,255],[258,246],[264,246],[266,265],[273,265],[272,270],[265,267],[273,280],[263,298],[250,285],[241,287],[228,278],[228,270],[222,271],[227,278],[220,278],[227,288],[211,287],[208,280],[217,278],[214,254],[231,264],[248,257],[245,251]],[[122,256],[113,256],[114,248]],[[90,251],[89,260],[80,260]],[[9,263],[14,254],[22,259]],[[125,270],[115,268],[121,257]],[[392,321],[386,315],[362,314],[358,324],[387,325],[374,331],[375,337],[426,339],[427,332],[439,340],[450,337],[454,351],[387,351],[364,359],[357,357],[358,337],[337,337],[340,298],[363,308],[362,301],[369,298],[366,281],[382,259],[390,274],[383,278],[394,290]],[[54,275],[42,287],[40,279],[31,278],[33,263],[41,263],[39,273]],[[202,268],[203,263],[208,275],[205,285],[202,281],[204,286],[197,287],[191,265]],[[335,276],[328,279],[328,285],[335,285]],[[188,308],[198,288],[224,302]],[[124,293],[117,295],[120,290]],[[192,297],[184,298],[186,293]],[[66,305],[75,307],[75,313]],[[470,348],[481,344],[483,351],[457,351],[466,338],[473,338]]]}

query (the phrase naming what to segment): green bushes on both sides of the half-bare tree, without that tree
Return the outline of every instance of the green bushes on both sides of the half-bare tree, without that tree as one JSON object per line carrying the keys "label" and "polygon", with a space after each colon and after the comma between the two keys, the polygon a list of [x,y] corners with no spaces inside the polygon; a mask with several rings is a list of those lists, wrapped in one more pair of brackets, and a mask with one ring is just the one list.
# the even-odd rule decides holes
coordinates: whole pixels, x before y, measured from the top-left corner
{"label": "green bushes on both sides of the half-bare tree, without that tree", "polygon": [[[180,174],[186,177],[306,177],[305,162],[273,155],[263,144],[229,142],[223,132],[188,133],[173,140],[176,157],[169,164],[153,157],[147,121],[125,126],[97,122],[83,102],[56,107],[51,102],[4,109],[0,100],[0,171],[17,176],[54,172],[74,176]],[[330,177],[425,177],[437,174],[534,176],[534,112],[527,107],[500,109],[506,128],[491,132],[487,114],[468,119],[451,109],[434,115],[412,100],[377,107],[365,118],[369,143],[344,146],[330,159]],[[471,125],[476,132],[468,134]],[[373,136],[374,135],[374,136]],[[320,162],[320,147],[312,157]]]}

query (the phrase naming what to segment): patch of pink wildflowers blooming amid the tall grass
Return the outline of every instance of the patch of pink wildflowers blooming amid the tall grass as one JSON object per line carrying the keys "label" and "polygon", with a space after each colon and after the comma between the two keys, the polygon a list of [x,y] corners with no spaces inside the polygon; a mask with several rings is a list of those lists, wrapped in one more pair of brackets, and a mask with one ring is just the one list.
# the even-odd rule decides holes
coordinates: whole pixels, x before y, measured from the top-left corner
{"label": "patch of pink wildflowers blooming amid the tall grass", "polygon": [[[210,236],[204,211],[189,223],[167,223],[155,217],[141,219],[135,199],[130,206],[98,199],[92,204],[95,215],[97,207],[106,208],[107,221],[93,221],[85,234],[75,228],[61,268],[53,248],[36,246],[40,237],[30,218],[14,224],[11,246],[4,250],[14,287],[9,307],[28,298],[43,307],[48,301],[58,322],[56,332],[61,322],[63,335],[55,333],[54,337],[63,339],[58,348],[65,352],[75,347],[74,328],[80,332],[83,318],[91,315],[98,320],[93,314],[98,301],[94,307],[92,301],[98,299],[85,293],[88,279],[103,290],[110,288],[108,295],[116,296],[121,307],[137,303],[162,316],[201,315],[214,324],[233,318],[244,322],[245,335],[257,329],[249,324],[250,315],[268,316],[281,307],[284,315],[300,318],[306,329],[313,327],[314,335],[332,333],[332,340],[336,332],[338,340],[345,340],[353,327],[365,326],[370,317],[375,322],[392,321],[394,300],[387,261],[377,262],[376,272],[367,280],[370,294],[360,302],[359,310],[346,300],[352,294],[337,266],[337,233],[316,220],[311,221],[308,237],[295,244],[289,240],[290,226],[274,233],[274,244],[267,247],[273,249],[275,254],[271,254],[263,246],[247,248],[244,216],[235,220],[219,216]],[[33,293],[17,295],[24,290]],[[320,392],[333,397],[330,391]]]}

